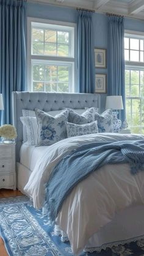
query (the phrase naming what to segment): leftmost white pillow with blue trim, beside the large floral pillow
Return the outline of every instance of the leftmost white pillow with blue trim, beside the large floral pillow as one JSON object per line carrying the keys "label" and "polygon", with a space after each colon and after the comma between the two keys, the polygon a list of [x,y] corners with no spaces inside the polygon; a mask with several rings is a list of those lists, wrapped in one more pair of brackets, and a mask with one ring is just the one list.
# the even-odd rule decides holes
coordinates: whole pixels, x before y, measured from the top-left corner
{"label": "leftmost white pillow with blue trim, beside the large floral pillow", "polygon": [[37,119],[36,117],[20,117],[24,128],[26,128],[26,144],[29,146],[37,145]]}

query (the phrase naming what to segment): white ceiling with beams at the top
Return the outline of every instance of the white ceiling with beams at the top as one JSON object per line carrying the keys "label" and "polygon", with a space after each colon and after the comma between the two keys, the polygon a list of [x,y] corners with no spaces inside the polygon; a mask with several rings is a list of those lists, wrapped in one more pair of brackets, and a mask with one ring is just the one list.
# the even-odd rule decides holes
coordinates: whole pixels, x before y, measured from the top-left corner
{"label": "white ceiling with beams at the top", "polygon": [[144,0],[27,0],[59,6],[92,9],[100,13],[115,13],[144,20]]}

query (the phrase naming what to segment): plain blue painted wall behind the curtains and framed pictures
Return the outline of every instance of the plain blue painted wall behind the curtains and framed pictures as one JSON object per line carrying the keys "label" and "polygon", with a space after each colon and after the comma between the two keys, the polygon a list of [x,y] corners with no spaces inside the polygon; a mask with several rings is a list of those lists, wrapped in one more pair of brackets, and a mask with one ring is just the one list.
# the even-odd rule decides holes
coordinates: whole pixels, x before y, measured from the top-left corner
{"label": "plain blue painted wall behind the curtains and framed pictures", "polygon": [[[76,23],[76,10],[67,7],[57,7],[46,4],[27,2],[26,15],[34,18],[45,18]],[[101,13],[94,13],[93,28],[95,48],[107,49],[108,18]],[[144,21],[131,18],[124,19],[124,29],[144,32]],[[96,68],[97,74],[106,74],[107,68]],[[101,94],[101,110],[105,109],[106,93]]]}

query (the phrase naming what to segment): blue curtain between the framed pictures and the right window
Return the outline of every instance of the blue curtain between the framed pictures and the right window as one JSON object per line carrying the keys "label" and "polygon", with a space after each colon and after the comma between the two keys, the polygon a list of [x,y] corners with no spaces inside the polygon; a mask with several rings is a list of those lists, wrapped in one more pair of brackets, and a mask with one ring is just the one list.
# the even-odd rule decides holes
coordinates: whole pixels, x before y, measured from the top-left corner
{"label": "blue curtain between the framed pictures and the right window", "polygon": [[108,95],[121,95],[124,110],[119,111],[119,119],[126,117],[124,84],[124,18],[109,16],[108,30]]}

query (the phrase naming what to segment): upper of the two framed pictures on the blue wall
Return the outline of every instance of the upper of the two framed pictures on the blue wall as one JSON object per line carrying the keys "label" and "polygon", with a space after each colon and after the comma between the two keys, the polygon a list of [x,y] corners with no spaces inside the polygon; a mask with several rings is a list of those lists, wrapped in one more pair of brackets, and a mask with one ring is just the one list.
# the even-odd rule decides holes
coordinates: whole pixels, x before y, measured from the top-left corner
{"label": "upper of the two framed pictures on the blue wall", "polygon": [[106,49],[95,49],[95,67],[106,68]]}

